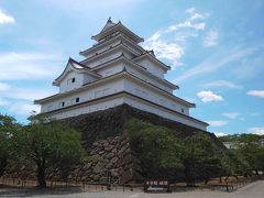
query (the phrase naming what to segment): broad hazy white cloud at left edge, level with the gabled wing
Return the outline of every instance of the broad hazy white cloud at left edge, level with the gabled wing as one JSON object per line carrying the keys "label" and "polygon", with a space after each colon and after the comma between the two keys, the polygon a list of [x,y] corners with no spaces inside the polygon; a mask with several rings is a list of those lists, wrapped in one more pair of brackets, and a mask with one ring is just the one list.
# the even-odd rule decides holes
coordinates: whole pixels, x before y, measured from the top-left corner
{"label": "broad hazy white cloud at left edge, level with the gabled wing", "polygon": [[62,56],[45,53],[0,54],[0,79],[46,79],[62,73]]}

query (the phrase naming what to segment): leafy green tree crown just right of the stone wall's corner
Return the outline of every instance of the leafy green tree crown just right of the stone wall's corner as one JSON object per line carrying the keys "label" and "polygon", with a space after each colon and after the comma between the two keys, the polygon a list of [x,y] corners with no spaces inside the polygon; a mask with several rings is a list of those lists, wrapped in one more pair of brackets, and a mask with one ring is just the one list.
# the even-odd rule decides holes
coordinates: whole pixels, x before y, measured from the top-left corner
{"label": "leafy green tree crown just right of the stone wall's corner", "polygon": [[183,168],[183,148],[170,130],[136,119],[129,121],[128,129],[132,147],[140,154],[139,158],[145,169]]}

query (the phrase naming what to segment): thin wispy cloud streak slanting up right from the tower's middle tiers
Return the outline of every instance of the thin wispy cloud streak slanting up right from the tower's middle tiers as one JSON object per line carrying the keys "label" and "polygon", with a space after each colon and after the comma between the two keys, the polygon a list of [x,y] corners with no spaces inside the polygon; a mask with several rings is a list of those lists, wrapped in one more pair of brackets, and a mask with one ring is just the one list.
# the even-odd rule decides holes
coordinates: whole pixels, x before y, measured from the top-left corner
{"label": "thin wispy cloud streak slanting up right from the tower's middle tiers", "polygon": [[174,82],[178,84],[179,81],[184,81],[188,78],[205,75],[209,73],[215,73],[218,69],[228,66],[230,63],[241,61],[241,58],[249,56],[253,52],[256,51],[256,47],[248,47],[243,48],[241,46],[227,50],[222,52],[217,52],[215,55],[210,56],[208,59],[201,62],[197,66],[191,69],[186,70],[182,76],[174,80]]}

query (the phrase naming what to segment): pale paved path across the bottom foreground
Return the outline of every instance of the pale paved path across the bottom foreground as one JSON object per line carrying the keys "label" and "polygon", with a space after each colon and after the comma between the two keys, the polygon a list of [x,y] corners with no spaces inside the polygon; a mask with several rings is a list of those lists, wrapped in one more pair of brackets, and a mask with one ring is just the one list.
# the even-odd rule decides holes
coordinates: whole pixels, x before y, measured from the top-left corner
{"label": "pale paved path across the bottom foreground", "polygon": [[264,180],[252,183],[234,193],[223,191],[185,191],[173,194],[143,194],[143,193],[117,193],[117,191],[100,191],[100,193],[65,193],[59,195],[51,195],[48,191],[30,191],[24,193],[18,189],[1,189],[0,197],[35,197],[35,198],[264,198]]}

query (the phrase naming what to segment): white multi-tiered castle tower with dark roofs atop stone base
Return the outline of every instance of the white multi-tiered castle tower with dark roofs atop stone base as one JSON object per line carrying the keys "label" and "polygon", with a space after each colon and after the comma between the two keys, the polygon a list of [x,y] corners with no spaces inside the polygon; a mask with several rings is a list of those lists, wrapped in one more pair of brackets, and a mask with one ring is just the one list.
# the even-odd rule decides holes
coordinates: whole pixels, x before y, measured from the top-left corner
{"label": "white multi-tiered castle tower with dark roofs atop stone base", "polygon": [[80,52],[85,59],[69,58],[64,72],[53,81],[59,92],[34,101],[41,105],[41,113],[65,119],[127,103],[207,130],[206,122],[189,116],[189,108],[195,108],[195,103],[176,97],[173,91],[178,86],[164,79],[170,67],[158,61],[153,51],[139,45],[144,41],[142,37],[109,19],[91,38],[97,43]]}

